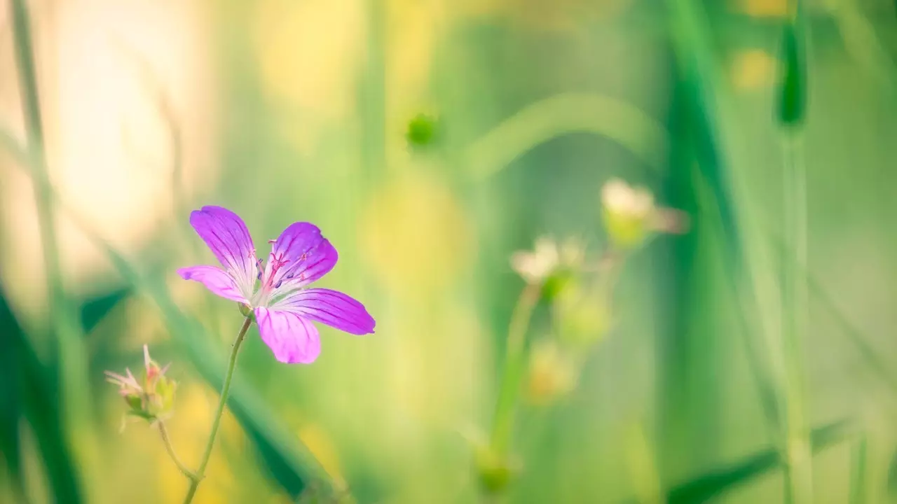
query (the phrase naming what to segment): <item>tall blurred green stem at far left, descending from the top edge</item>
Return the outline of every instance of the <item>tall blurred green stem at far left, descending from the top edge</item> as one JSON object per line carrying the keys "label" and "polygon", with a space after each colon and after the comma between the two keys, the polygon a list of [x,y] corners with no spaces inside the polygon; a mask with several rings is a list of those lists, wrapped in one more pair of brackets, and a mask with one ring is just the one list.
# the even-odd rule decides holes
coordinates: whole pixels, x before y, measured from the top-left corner
{"label": "tall blurred green stem at far left, descending from the top edge", "polygon": [[27,162],[36,178],[34,199],[37,204],[40,243],[43,246],[44,271],[47,275],[50,323],[57,335],[60,382],[63,391],[64,416],[80,423],[86,417],[87,402],[86,354],[83,348],[81,324],[68,302],[62,281],[62,267],[54,218],[54,204],[49,192],[47,153],[44,127],[40,118],[38,79],[35,71],[31,23],[26,0],[10,2],[13,19],[13,53],[18,68],[19,94],[22,97],[22,117],[25,122]]}

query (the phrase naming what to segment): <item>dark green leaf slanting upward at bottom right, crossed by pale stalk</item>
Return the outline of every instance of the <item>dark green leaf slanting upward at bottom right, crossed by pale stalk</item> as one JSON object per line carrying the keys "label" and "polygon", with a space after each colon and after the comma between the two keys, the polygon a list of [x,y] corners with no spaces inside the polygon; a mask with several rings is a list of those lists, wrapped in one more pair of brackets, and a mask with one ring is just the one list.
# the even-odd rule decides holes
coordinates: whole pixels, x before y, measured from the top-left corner
{"label": "dark green leaf slanting upward at bottom right, crossed by pale stalk", "polygon": [[[839,421],[814,429],[811,435],[813,452],[816,453],[846,439],[849,435],[847,427],[847,421]],[[667,492],[666,501],[669,504],[706,502],[724,491],[730,491],[738,485],[767,474],[780,465],[779,452],[774,448],[769,448],[736,465],[703,474],[689,482],[675,486]]]}

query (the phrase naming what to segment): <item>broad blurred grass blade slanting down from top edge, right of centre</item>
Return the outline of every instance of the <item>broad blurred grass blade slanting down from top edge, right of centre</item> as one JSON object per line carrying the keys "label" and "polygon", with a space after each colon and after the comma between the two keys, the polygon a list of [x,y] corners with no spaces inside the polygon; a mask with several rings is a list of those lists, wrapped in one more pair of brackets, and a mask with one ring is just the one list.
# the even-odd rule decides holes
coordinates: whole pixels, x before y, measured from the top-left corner
{"label": "broad blurred grass blade slanting down from top edge, right of centre", "polygon": [[[731,97],[718,78],[721,64],[714,54],[710,20],[703,4],[696,0],[668,0],[666,5],[676,64],[684,76],[685,98],[693,122],[692,142],[697,167],[710,196],[706,199],[716,206],[712,221],[719,223],[717,229],[721,231],[725,266],[731,274],[730,287],[735,291],[738,317],[743,323],[741,333],[750,353],[750,372],[761,394],[769,428],[779,432],[782,430],[780,417],[783,416],[780,404],[784,395],[777,337],[779,285],[773,261],[762,246],[765,233],[746,191],[747,181],[739,170],[732,169],[733,163],[727,159],[726,136],[721,125],[726,112],[731,112],[727,109]],[[737,124],[726,126],[736,129]],[[768,356],[767,365],[759,359],[764,353]],[[670,459],[675,460],[678,454],[675,450],[670,452]]]}

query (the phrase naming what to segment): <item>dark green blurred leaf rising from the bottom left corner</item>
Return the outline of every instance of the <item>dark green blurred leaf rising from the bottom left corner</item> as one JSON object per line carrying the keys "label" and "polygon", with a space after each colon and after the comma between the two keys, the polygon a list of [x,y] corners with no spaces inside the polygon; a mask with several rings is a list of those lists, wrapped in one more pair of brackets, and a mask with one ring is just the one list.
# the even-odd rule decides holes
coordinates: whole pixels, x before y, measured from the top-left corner
{"label": "dark green blurred leaf rising from the bottom left corner", "polygon": [[[40,363],[2,291],[0,326],[4,327],[4,337],[0,338],[0,360],[3,362],[0,367],[0,388],[3,392],[0,394],[5,402],[3,424],[0,426],[4,430],[3,439],[0,440],[3,446],[0,448],[4,449],[7,465],[10,465],[10,460],[13,464],[18,463],[18,422],[24,418],[37,440],[53,501],[77,504],[81,502],[81,491],[63,435],[59,397],[48,382],[48,369]],[[6,411],[7,405],[11,406],[10,411]],[[10,467],[11,472],[13,468],[20,469],[14,465]],[[13,474],[13,477],[20,476]]]}

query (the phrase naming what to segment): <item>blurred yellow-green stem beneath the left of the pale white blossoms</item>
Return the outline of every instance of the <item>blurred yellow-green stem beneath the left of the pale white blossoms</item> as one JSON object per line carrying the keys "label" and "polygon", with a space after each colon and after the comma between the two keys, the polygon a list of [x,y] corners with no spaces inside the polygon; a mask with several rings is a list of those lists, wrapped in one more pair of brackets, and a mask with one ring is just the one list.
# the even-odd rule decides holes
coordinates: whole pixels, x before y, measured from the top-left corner
{"label": "blurred yellow-green stem beneath the left of the pale white blossoms", "polygon": [[517,305],[510,317],[504,369],[501,375],[499,398],[495,403],[492,438],[490,439],[490,448],[495,455],[506,455],[509,448],[511,434],[514,430],[514,410],[520,389],[527,329],[541,294],[542,283],[527,283],[524,290],[520,292]]}

